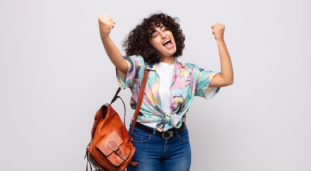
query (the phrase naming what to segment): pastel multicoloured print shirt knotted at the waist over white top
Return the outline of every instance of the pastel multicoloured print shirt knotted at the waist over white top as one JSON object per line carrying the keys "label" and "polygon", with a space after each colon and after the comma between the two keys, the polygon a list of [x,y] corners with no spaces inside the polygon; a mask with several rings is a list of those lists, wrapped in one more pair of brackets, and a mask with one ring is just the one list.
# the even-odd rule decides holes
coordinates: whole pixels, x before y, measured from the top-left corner
{"label": "pastel multicoloured print shirt knotted at the waist over white top", "polygon": [[161,99],[158,95],[159,77],[155,63],[146,63],[141,56],[124,57],[128,62],[127,74],[117,70],[117,81],[120,88],[130,88],[132,92],[131,107],[136,109],[145,68],[150,70],[145,88],[145,96],[138,116],[138,122],[158,122],[156,129],[166,131],[179,128],[186,122],[186,113],[194,96],[213,98],[220,88],[209,87],[213,77],[218,72],[204,70],[192,63],[181,63],[174,60],[174,73],[171,81],[170,113],[161,110]]}

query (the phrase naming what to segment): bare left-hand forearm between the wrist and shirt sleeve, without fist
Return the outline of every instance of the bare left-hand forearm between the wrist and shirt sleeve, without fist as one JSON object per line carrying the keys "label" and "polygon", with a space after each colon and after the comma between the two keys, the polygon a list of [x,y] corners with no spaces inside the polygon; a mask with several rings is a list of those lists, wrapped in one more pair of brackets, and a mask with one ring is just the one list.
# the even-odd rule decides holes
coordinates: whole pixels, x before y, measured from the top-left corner
{"label": "bare left-hand forearm between the wrist and shirt sleeve, without fist", "polygon": [[115,67],[121,72],[127,73],[128,64],[110,37],[101,37],[101,41],[106,54]]}

